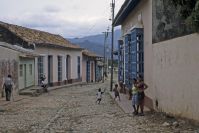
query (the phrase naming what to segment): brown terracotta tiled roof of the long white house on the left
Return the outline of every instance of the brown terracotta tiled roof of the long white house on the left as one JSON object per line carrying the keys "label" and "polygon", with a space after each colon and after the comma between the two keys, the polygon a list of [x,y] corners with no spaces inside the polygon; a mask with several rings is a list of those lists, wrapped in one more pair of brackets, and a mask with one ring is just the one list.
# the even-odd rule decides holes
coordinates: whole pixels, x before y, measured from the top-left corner
{"label": "brown terracotta tiled roof of the long white house on the left", "polygon": [[39,31],[35,29],[25,28],[22,26],[17,26],[13,24],[8,24],[0,21],[0,26],[8,29],[10,32],[20,37],[26,42],[35,44],[51,44],[67,48],[77,48],[80,47],[70,43],[68,40],[60,35],[51,34],[44,31]]}

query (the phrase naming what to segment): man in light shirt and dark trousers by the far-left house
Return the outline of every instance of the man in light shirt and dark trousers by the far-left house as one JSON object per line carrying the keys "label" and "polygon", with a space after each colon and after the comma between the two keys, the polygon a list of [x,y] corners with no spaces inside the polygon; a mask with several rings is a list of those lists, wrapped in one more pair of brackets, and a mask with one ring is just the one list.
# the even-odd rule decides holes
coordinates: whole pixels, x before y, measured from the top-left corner
{"label": "man in light shirt and dark trousers by the far-left house", "polygon": [[13,90],[13,81],[11,75],[8,75],[8,77],[5,79],[3,88],[5,89],[6,93],[6,101],[10,101],[12,90]]}

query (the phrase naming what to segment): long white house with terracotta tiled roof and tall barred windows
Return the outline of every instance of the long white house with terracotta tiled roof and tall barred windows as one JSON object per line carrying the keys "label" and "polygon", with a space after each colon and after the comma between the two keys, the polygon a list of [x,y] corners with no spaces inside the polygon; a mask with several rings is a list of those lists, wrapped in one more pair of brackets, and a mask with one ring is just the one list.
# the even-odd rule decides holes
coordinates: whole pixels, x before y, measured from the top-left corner
{"label": "long white house with terracotta tiled roof and tall barred windows", "polygon": [[[60,35],[0,22],[0,41],[33,50],[39,55],[32,61],[35,85],[41,83],[43,75],[51,86],[82,81],[82,49]],[[29,67],[23,62],[19,64],[20,72],[28,71]]]}

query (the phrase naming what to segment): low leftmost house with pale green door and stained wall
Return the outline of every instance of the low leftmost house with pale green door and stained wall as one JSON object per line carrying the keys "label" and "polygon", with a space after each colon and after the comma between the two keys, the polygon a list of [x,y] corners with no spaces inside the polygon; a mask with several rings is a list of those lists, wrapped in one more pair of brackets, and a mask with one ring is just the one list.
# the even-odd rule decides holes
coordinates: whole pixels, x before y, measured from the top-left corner
{"label": "low leftmost house with pale green door and stained wall", "polygon": [[[14,81],[14,92],[35,85],[35,57],[32,51],[0,42],[0,86],[4,79],[11,74]],[[26,69],[22,69],[25,67]],[[0,91],[2,92],[2,90]]]}

